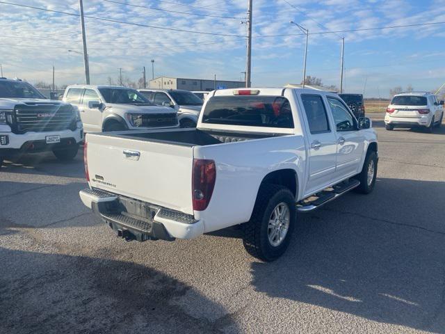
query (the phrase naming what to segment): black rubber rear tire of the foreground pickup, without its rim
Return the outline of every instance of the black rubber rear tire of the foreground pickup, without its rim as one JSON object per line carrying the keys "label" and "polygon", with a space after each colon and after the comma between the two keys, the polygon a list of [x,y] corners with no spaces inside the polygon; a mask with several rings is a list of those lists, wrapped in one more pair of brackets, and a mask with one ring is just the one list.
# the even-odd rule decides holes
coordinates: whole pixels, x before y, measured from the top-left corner
{"label": "black rubber rear tire of the foreground pickup, without its rim", "polygon": [[[289,207],[289,229],[279,246],[272,246],[268,239],[268,223],[275,207],[284,202]],[[289,246],[296,224],[296,203],[291,191],[277,184],[264,184],[260,187],[252,217],[243,225],[245,250],[259,260],[270,262],[280,257]]]}

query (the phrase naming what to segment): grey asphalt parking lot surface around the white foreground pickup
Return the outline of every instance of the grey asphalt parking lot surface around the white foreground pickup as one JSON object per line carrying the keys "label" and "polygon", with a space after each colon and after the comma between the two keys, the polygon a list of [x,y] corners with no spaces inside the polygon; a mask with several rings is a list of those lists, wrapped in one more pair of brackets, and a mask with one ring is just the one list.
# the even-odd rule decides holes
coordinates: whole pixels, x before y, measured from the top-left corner
{"label": "grey asphalt parking lot surface around the white foreground pickup", "polygon": [[0,333],[445,333],[445,127],[388,132],[375,191],[298,216],[261,263],[239,232],[118,239],[79,200],[82,154],[0,173]]}

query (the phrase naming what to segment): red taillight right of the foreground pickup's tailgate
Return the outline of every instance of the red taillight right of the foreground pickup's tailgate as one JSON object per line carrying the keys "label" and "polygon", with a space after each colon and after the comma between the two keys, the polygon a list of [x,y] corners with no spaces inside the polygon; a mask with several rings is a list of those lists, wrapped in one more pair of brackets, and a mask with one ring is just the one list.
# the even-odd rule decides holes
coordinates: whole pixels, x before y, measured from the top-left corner
{"label": "red taillight right of the foreground pickup's tailgate", "polygon": [[193,210],[203,211],[209,205],[216,181],[215,161],[194,159],[192,171]]}

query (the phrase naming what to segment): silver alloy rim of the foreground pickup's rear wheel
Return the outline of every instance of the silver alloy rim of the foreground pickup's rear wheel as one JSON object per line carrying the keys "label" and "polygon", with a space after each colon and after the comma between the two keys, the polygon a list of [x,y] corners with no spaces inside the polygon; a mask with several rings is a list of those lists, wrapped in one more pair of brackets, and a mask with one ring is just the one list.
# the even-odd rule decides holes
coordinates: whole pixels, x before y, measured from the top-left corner
{"label": "silver alloy rim of the foreground pickup's rear wheel", "polygon": [[290,219],[291,212],[285,202],[281,202],[273,209],[267,230],[270,245],[277,247],[282,244],[289,231]]}

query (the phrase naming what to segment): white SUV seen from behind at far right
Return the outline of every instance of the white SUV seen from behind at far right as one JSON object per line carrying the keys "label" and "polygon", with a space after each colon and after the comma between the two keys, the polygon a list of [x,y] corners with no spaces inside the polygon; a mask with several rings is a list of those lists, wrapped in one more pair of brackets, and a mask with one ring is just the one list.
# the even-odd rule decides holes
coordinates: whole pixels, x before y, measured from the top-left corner
{"label": "white SUV seen from behind at far right", "polygon": [[432,132],[440,127],[444,118],[444,101],[436,95],[424,92],[410,92],[394,95],[387,108],[385,125],[387,130],[394,127],[424,127]]}

